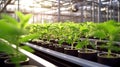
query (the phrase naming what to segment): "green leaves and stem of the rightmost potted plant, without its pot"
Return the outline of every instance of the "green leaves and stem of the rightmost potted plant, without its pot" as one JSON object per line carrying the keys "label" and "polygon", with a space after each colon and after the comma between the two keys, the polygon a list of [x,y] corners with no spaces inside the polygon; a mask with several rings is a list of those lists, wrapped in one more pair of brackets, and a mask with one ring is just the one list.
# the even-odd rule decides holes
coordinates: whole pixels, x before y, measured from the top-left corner
{"label": "green leaves and stem of the rightmost potted plant, without its pot", "polygon": [[96,30],[94,32],[94,36],[103,39],[103,38],[108,38],[107,44],[101,45],[101,48],[107,48],[107,57],[112,57],[111,56],[111,51],[120,51],[120,48],[114,45],[114,40],[116,40],[116,37],[119,37],[119,27],[116,26],[116,22],[113,20],[100,23],[96,26]]}

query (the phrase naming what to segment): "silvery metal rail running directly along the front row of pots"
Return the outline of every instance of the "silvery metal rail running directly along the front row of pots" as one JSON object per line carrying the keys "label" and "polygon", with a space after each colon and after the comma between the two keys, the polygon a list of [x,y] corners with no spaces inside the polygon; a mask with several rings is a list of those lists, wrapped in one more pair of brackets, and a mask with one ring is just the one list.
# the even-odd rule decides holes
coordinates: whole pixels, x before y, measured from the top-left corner
{"label": "silvery metal rail running directly along the front row of pots", "polygon": [[33,49],[36,49],[38,51],[44,52],[44,53],[49,54],[51,56],[57,57],[59,59],[68,61],[70,63],[76,64],[76,65],[79,65],[79,66],[82,66],[82,67],[109,67],[107,65],[103,65],[103,64],[88,61],[88,60],[85,60],[85,59],[82,59],[82,58],[77,58],[77,57],[74,57],[74,56],[70,56],[70,55],[67,55],[67,54],[64,54],[64,53],[60,53],[60,52],[57,52],[57,51],[53,51],[53,50],[50,50],[50,49],[47,49],[47,48],[43,48],[43,47],[34,45],[34,44],[31,44],[31,43],[24,43],[24,44],[27,45],[27,46],[30,46]]}

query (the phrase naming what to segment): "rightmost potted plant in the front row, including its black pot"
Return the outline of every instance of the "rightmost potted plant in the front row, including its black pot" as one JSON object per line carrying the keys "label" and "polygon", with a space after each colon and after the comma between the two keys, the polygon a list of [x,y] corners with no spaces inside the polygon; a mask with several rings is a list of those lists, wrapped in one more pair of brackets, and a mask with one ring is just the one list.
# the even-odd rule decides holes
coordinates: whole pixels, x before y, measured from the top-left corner
{"label": "rightmost potted plant in the front row, including its black pot", "polygon": [[[115,25],[116,22],[113,20],[106,21],[104,23],[98,24],[97,30],[103,31],[104,36],[108,38],[107,44],[101,45],[101,48],[106,48],[107,52],[98,54],[98,62],[110,65],[112,67],[119,66],[120,56],[118,54],[112,53],[112,51],[120,51],[118,46],[115,46],[114,40],[119,37],[119,27]],[[97,32],[97,34],[103,34],[103,32]],[[98,35],[97,35],[98,36]]]}

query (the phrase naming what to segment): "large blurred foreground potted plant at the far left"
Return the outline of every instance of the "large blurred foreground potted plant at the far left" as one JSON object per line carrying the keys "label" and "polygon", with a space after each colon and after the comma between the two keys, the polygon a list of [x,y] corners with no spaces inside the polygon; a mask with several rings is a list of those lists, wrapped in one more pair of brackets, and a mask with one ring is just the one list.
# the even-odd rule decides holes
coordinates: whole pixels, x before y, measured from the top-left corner
{"label": "large blurred foreground potted plant at the far left", "polygon": [[[16,11],[15,14],[19,17],[19,22],[6,14],[3,14],[0,20],[0,38],[2,39],[0,42],[5,42],[0,44],[0,46],[2,46],[0,47],[0,51],[10,56],[9,59],[5,60],[5,63],[7,63],[6,65],[8,65],[6,67],[19,67],[20,64],[24,64],[22,62],[26,62],[28,58],[19,52],[19,48],[22,47],[29,51],[33,50],[27,46],[20,46],[20,43],[39,36],[38,33],[28,34],[25,29],[31,14],[24,15],[19,11]],[[13,45],[15,45],[15,47],[13,47]]]}

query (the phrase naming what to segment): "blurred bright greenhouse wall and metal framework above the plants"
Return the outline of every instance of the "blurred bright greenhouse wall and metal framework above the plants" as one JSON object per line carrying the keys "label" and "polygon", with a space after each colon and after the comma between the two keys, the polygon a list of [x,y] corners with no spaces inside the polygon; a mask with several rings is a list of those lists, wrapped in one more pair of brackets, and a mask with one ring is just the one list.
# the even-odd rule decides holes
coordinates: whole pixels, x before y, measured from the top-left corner
{"label": "blurred bright greenhouse wall and metal framework above the plants", "polygon": [[32,13],[32,22],[102,22],[110,19],[120,21],[119,0],[11,0],[5,6],[7,1],[0,0],[1,12],[13,16],[16,10]]}

